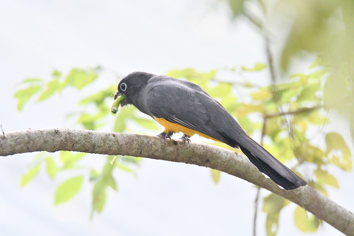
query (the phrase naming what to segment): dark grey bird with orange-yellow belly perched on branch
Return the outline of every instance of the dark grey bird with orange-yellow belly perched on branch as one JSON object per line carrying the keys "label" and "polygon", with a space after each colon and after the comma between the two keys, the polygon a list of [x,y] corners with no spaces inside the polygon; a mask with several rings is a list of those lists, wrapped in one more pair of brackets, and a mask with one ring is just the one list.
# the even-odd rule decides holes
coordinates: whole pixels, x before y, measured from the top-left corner
{"label": "dark grey bird with orange-yellow belly perched on branch", "polygon": [[133,72],[120,81],[115,99],[121,95],[125,96],[121,106],[134,105],[165,127],[158,137],[167,139],[182,132],[181,139],[189,143],[189,138],[198,134],[240,148],[260,172],[284,189],[307,184],[251,139],[217,100],[192,82]]}

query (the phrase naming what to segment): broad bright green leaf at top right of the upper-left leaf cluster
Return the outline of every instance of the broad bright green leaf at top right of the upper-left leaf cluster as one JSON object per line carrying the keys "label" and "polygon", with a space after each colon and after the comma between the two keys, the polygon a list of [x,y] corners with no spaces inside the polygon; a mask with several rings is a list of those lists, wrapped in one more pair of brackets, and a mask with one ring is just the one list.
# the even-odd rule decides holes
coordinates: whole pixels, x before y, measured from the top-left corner
{"label": "broad bright green leaf at top right of the upper-left leaf cluster", "polygon": [[97,74],[93,70],[73,68],[65,78],[62,87],[65,87],[66,85],[72,85],[78,90],[81,90],[81,88],[95,81],[97,77]]}

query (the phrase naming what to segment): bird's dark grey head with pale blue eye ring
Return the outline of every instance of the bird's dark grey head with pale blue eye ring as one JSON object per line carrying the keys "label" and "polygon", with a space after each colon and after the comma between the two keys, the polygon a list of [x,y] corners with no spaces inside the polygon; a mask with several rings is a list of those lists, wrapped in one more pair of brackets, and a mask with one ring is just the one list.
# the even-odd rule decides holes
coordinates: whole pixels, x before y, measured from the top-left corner
{"label": "bird's dark grey head with pale blue eye ring", "polygon": [[141,88],[146,85],[148,80],[153,76],[155,75],[140,71],[130,73],[119,82],[114,99],[123,94],[125,98],[120,103],[122,106],[127,104],[136,105]]}

